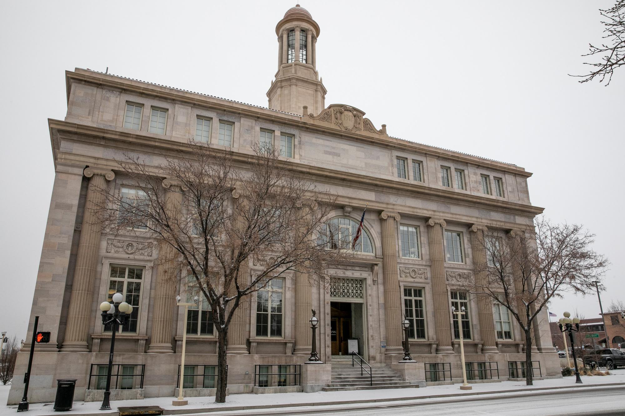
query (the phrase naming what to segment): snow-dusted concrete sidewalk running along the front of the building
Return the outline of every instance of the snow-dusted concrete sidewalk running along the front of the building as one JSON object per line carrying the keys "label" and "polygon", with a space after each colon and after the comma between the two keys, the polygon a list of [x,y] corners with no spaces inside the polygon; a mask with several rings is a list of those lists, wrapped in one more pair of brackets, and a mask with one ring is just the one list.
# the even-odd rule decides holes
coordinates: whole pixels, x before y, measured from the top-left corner
{"label": "snow-dusted concrete sidewalk running along the front of the building", "polygon": [[[224,404],[216,404],[213,397],[191,397],[186,406],[171,405],[173,397],[153,397],[144,400],[124,400],[111,402],[114,410],[99,410],[99,402],[74,402],[69,412],[73,416],[93,414],[118,414],[118,407],[159,406],[166,415],[182,414],[276,414],[296,413],[310,410],[310,407],[321,410],[357,409],[372,407],[372,404],[407,405],[427,403],[429,400],[483,400],[494,397],[514,397],[516,395],[545,394],[546,392],[566,392],[571,389],[610,389],[615,394],[625,391],[625,369],[614,370],[612,375],[582,376],[584,384],[575,384],[574,377],[562,379],[537,380],[533,386],[524,382],[503,381],[499,383],[472,384],[472,390],[460,390],[459,384],[431,386],[421,389],[388,389],[388,390],[352,390],[349,392],[317,392],[317,393],[283,393],[283,394],[236,394],[227,397]],[[0,386],[0,400],[6,403],[9,386]],[[29,415],[58,414],[53,411],[53,404],[31,404]],[[256,410],[255,412],[250,412]],[[0,415],[15,414],[17,405],[0,407]]]}

